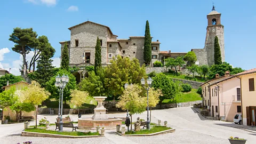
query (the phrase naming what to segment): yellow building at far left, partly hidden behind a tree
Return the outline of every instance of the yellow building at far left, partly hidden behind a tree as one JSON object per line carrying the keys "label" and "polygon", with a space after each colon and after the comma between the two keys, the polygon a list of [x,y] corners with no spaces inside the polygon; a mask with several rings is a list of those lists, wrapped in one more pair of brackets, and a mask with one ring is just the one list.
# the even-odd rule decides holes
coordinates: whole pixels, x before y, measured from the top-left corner
{"label": "yellow building at far left, partly hidden behind a tree", "polygon": [[[13,86],[13,85],[15,85],[17,90],[21,90],[21,89],[27,87],[29,85],[29,83],[21,81],[18,83],[3,86],[2,89],[9,90],[11,88],[11,86]],[[34,115],[35,115],[35,111],[31,111],[29,113],[27,113],[25,111],[22,112],[22,116],[34,116]],[[9,107],[7,107],[3,110],[3,122],[5,121],[4,116],[10,116],[11,121],[17,121],[16,112],[12,111]]]}

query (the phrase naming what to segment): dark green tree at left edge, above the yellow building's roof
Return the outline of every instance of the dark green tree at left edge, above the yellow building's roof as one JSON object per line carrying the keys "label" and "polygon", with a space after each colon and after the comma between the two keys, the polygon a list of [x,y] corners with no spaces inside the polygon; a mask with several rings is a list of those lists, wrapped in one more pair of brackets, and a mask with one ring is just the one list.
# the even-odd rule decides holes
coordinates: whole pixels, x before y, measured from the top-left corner
{"label": "dark green tree at left edge, above the yellow building's roof", "polygon": [[25,79],[21,76],[14,76],[13,74],[5,74],[4,76],[0,77],[0,92],[3,91],[2,87],[7,85],[7,81],[9,84],[18,83],[21,81],[25,81]]}

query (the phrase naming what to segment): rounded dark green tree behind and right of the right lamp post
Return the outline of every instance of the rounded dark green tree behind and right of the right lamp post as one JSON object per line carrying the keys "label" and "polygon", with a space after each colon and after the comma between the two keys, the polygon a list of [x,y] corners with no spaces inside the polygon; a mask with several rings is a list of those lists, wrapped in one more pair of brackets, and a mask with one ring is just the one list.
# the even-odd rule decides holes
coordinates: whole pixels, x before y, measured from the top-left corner
{"label": "rounded dark green tree behind and right of the right lamp post", "polygon": [[164,99],[173,99],[174,102],[175,95],[181,92],[179,83],[173,82],[171,78],[164,74],[157,74],[157,76],[153,77],[152,86],[162,91],[163,97],[159,97],[160,106],[162,106]]}

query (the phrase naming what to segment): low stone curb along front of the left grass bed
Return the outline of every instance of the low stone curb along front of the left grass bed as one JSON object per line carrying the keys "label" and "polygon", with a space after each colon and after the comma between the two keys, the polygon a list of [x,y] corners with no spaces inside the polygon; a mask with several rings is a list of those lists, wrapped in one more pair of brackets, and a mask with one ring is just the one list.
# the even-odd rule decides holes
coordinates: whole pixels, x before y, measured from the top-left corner
{"label": "low stone curb along front of the left grass bed", "polygon": [[88,135],[88,136],[72,136],[50,133],[38,133],[38,132],[21,132],[21,136],[25,137],[50,137],[50,138],[93,138],[93,137],[105,137],[105,135]]}

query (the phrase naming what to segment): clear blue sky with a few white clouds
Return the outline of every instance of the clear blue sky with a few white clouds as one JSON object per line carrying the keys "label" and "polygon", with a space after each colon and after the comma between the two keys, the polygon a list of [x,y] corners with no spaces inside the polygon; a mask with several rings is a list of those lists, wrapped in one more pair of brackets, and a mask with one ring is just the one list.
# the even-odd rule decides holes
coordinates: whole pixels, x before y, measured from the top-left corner
{"label": "clear blue sky with a few white clouds", "polygon": [[[79,1],[79,0],[9,0],[0,5],[0,68],[20,75],[20,54],[12,51],[9,41],[13,28],[33,28],[45,35],[56,50],[53,65],[60,65],[61,41],[70,40],[69,27],[84,21],[110,27],[118,38],[144,36],[149,21],[153,41],[161,42],[160,50],[188,52],[203,49],[206,36],[206,15],[212,0],[180,1]],[[225,61],[234,67],[255,68],[256,12],[254,0],[214,0],[224,26]],[[31,59],[30,52],[27,60]]]}

